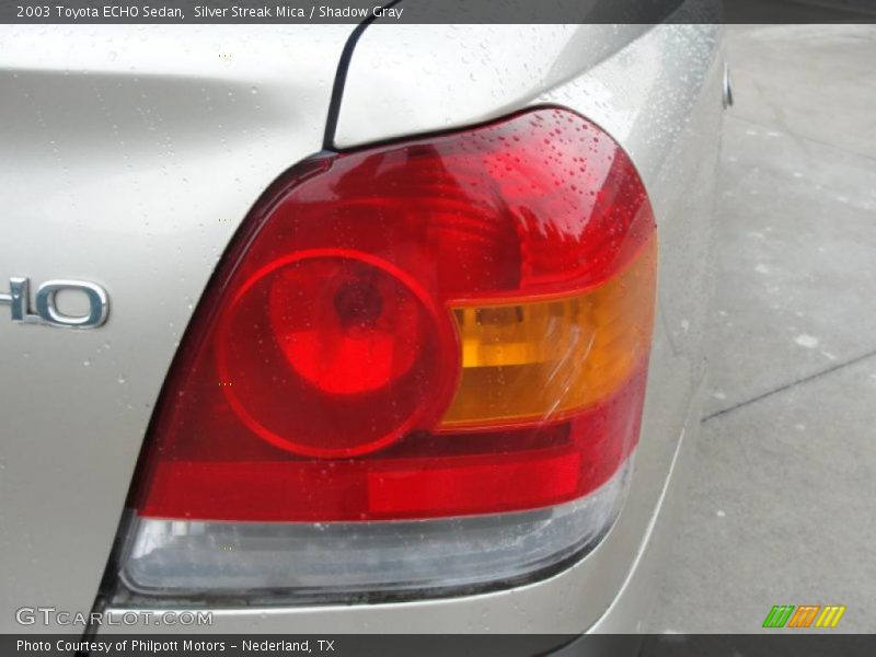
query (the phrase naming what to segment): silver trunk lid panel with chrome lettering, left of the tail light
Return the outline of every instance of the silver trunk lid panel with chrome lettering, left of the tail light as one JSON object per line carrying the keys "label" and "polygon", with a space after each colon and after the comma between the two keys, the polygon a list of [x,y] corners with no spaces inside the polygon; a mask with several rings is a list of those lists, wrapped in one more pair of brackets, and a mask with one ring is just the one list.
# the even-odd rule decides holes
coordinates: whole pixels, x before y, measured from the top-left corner
{"label": "silver trunk lid panel with chrome lettering, left of the tail light", "polygon": [[264,188],[322,148],[351,30],[0,26],[0,280],[111,302],[92,331],[0,306],[3,632],[39,629],[21,606],[91,609],[193,308]]}

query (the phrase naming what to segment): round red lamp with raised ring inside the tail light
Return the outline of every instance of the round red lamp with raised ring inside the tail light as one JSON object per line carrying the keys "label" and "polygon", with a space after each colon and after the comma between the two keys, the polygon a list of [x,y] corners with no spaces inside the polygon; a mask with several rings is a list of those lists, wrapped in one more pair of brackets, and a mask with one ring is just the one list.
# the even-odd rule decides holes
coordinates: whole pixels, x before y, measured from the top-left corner
{"label": "round red lamp with raised ring inside the tail light", "polygon": [[447,407],[459,372],[449,314],[410,276],[341,249],[257,270],[221,320],[222,391],[256,435],[291,452],[374,451]]}

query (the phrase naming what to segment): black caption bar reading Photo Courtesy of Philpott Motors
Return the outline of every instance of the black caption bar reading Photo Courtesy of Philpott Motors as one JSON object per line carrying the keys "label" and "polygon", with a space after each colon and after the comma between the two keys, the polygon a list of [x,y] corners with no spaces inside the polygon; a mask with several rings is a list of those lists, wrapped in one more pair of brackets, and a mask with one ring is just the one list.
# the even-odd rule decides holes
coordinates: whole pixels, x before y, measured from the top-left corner
{"label": "black caption bar reading Photo Courtesy of Philpott Motors", "polygon": [[[83,645],[88,642],[89,645]],[[83,650],[84,648],[84,650]],[[111,657],[320,655],[323,657],[871,657],[876,635],[833,630],[763,634],[3,634],[4,657],[58,657],[71,650]]]}

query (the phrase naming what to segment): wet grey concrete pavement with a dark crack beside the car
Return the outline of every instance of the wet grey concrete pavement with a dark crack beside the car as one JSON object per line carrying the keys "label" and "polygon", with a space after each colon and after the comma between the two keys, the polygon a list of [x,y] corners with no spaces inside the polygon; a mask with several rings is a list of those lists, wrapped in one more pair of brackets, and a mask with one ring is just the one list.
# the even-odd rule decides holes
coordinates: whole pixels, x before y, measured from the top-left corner
{"label": "wet grey concrete pavement with a dark crack beside the car", "polygon": [[650,630],[876,631],[876,26],[728,27],[711,393]]}

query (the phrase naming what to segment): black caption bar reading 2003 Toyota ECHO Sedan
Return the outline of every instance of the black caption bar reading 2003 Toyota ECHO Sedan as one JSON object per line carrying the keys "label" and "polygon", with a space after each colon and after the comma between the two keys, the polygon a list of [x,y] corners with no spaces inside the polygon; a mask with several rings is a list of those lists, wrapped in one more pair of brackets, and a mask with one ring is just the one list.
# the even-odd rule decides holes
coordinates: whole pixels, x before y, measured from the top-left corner
{"label": "black caption bar reading 2003 Toyota ECHO Sedan", "polygon": [[12,24],[869,23],[876,0],[0,0]]}

